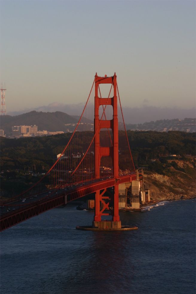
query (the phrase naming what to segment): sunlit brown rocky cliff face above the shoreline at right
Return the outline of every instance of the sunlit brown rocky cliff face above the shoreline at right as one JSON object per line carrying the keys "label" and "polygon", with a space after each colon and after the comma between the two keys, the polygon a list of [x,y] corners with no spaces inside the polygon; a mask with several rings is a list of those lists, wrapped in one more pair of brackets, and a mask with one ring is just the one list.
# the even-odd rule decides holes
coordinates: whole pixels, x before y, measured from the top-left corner
{"label": "sunlit brown rocky cliff face above the shoreline at right", "polygon": [[165,175],[150,171],[144,172],[145,188],[150,189],[151,200],[195,198],[195,159],[176,160],[175,162],[177,163],[176,168],[168,168]]}

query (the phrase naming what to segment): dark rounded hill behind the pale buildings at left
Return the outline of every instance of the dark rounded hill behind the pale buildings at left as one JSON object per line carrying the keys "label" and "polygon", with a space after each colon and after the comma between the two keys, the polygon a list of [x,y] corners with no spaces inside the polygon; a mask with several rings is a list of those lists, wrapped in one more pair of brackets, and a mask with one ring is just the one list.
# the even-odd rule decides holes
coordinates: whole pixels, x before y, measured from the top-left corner
{"label": "dark rounded hill behind the pale buildings at left", "polygon": [[47,130],[49,132],[63,131],[66,132],[67,127],[65,124],[75,124],[77,119],[73,118],[67,113],[56,112],[37,112],[31,111],[21,115],[11,116],[3,115],[0,118],[1,129],[4,132],[10,133],[13,126],[21,125],[37,125],[38,130]]}

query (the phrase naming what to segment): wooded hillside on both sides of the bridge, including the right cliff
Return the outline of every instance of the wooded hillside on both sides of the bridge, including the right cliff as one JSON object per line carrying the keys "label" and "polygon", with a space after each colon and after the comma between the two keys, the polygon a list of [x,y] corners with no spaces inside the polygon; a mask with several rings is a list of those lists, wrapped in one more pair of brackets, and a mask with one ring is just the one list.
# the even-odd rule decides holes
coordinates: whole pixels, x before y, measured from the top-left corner
{"label": "wooded hillside on both sides of the bridge, including the right cliff", "polygon": [[[2,194],[19,194],[37,182],[41,174],[54,164],[70,136],[70,133],[65,133],[19,139],[1,137]],[[181,189],[189,185],[194,191],[195,133],[127,131],[127,136],[135,167],[145,170],[151,188],[156,190],[163,185],[156,179],[156,175],[160,175],[173,182],[173,186],[168,188],[173,192],[176,179]]]}

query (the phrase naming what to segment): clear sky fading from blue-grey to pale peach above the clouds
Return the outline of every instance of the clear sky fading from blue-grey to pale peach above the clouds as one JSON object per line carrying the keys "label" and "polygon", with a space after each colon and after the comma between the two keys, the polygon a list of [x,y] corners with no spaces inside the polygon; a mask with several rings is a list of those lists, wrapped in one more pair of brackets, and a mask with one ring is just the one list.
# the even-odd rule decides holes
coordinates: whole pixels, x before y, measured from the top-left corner
{"label": "clear sky fading from blue-grey to pale peach above the clouds", "polygon": [[95,72],[116,72],[123,106],[195,106],[195,1],[0,5],[8,114],[86,102]]}

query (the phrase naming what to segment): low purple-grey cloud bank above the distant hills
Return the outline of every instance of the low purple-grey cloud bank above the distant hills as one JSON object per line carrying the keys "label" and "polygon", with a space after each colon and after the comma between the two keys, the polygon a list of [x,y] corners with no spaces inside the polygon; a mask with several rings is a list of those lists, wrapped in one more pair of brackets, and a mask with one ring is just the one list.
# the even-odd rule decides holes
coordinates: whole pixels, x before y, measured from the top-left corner
{"label": "low purple-grey cloud bank above the distant hills", "polygon": [[[147,101],[145,101],[147,102]],[[81,115],[84,103],[78,104],[63,104],[53,102],[48,106],[40,106],[34,109],[25,109],[18,112],[9,112],[8,115],[19,115],[22,113],[30,112],[32,110],[42,112],[55,112],[62,111],[69,115]],[[126,107],[123,108],[123,115],[125,123],[127,124],[142,124],[149,121],[157,121],[159,119],[173,119],[173,118],[195,118],[196,109],[180,109],[177,107],[156,107],[156,106],[142,106],[142,107]]]}

